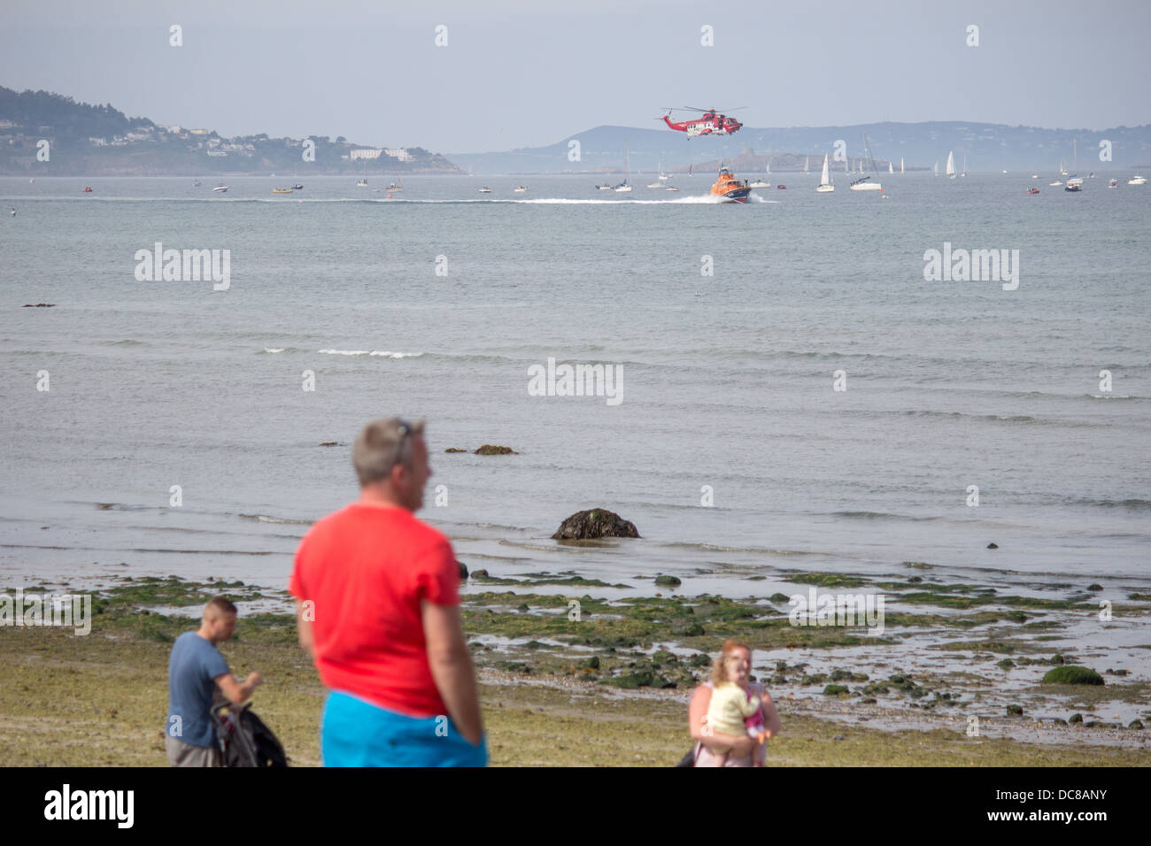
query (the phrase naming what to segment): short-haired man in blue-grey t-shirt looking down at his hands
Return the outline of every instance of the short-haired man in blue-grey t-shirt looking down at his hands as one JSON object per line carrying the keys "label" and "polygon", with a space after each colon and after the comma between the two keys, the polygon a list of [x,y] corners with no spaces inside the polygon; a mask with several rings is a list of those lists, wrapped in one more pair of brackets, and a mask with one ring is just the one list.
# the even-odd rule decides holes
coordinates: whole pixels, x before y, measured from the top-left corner
{"label": "short-haired man in blue-grey t-shirt looking down at his hands", "polygon": [[241,684],[216,649],[236,631],[236,605],[216,596],[204,607],[195,632],[176,638],[168,661],[168,723],[165,745],[173,767],[219,767],[220,748],[211,709],[215,691],[234,704],[252,695],[264,677],[252,672]]}

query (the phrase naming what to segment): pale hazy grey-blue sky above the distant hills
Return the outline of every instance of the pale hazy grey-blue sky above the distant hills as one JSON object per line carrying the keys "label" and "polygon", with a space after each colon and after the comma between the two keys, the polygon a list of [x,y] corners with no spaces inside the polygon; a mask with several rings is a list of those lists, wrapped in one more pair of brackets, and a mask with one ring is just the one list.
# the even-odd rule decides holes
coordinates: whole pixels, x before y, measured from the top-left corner
{"label": "pale hazy grey-blue sky above the distant hills", "polygon": [[655,127],[687,105],[747,106],[749,127],[1106,129],[1151,122],[1149,38],[1151,0],[0,0],[0,85],[229,136],[441,153]]}

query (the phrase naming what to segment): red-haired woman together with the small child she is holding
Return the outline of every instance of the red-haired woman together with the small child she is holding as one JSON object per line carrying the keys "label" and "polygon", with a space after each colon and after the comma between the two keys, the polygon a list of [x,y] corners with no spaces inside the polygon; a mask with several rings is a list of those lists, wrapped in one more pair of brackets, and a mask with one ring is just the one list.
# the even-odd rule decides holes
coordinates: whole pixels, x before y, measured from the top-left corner
{"label": "red-haired woman together with the small child she is holding", "polygon": [[725,641],[711,679],[695,688],[687,716],[696,767],[763,767],[779,714],[763,685],[750,683],[752,649]]}

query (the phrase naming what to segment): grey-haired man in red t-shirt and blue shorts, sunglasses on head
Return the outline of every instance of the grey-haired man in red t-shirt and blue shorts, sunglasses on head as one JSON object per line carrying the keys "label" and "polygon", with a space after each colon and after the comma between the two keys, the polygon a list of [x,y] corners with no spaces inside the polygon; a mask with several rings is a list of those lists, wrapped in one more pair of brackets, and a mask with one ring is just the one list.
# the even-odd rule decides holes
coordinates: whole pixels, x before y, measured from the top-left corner
{"label": "grey-haired man in red t-shirt and blue shorts, sunglasses on head", "polygon": [[356,439],[360,498],[304,535],[289,590],[300,646],[329,688],[327,767],[487,763],[459,620],[459,565],[414,517],[432,475],[424,424],[376,420]]}

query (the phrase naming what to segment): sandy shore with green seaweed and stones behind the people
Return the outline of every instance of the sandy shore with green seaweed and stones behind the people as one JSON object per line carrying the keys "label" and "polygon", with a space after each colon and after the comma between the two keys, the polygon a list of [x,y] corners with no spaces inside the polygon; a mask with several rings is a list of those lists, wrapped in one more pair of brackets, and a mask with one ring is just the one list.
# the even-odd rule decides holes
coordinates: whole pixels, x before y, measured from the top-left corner
{"label": "sandy shore with green seaweed and stones behind the people", "polygon": [[[318,764],[323,688],[296,643],[291,617],[253,613],[257,605],[252,603],[274,604],[282,596],[238,582],[177,579],[124,579],[104,592],[94,602],[89,637],[52,627],[0,627],[0,665],[9,678],[20,679],[0,689],[0,748],[6,750],[0,763],[163,765],[168,653],[174,635],[193,627],[175,611],[196,609],[205,596],[220,592],[241,605],[238,637],[221,651],[237,674],[258,669],[268,679],[257,693],[254,708],[277,733],[294,764]],[[462,604],[494,765],[674,764],[691,748],[687,698],[707,672],[704,662],[693,662],[688,655],[714,654],[709,645],[740,630],[755,649],[754,672],[767,684],[784,721],[780,737],[769,748],[769,765],[1149,763],[1151,733],[1145,730],[1034,722],[1030,703],[1024,706],[1024,716],[1007,717],[1001,709],[994,712],[989,689],[970,680],[960,684],[925,665],[901,673],[907,691],[927,692],[917,698],[905,696],[907,691],[897,691],[890,680],[875,676],[869,685],[893,689],[863,695],[866,685],[849,676],[857,662],[847,660],[843,646],[784,646],[793,660],[775,673],[790,678],[778,681],[769,676],[776,650],[763,643],[765,635],[775,637],[776,627],[748,627],[755,620],[738,602],[634,597],[631,608],[609,607],[613,612],[600,609],[595,601],[585,602],[587,616],[577,624],[580,635],[565,640],[559,631],[549,637],[542,630],[565,626],[566,600],[516,596],[523,600],[516,607],[508,605],[508,595],[490,593],[465,595]],[[701,624],[712,631],[695,634],[694,628],[685,628],[676,635],[669,630],[680,627],[681,622],[669,625],[651,616],[653,610],[669,615],[673,605],[689,602],[700,603],[700,611],[688,615],[696,619],[686,625]],[[148,608],[163,608],[171,616]],[[637,610],[640,613],[633,613]],[[660,630],[660,639],[649,640],[653,628],[645,624]],[[851,638],[843,631],[816,633]],[[497,647],[496,639],[504,642]],[[803,657],[810,664],[821,650],[826,661],[848,665],[840,670],[848,676],[839,680],[849,693],[820,695],[822,680],[799,684],[800,673],[820,673],[796,660]],[[1016,657],[1024,656],[1016,653]],[[670,684],[676,686],[663,687]],[[935,695],[942,693],[956,701]],[[1096,722],[1100,723],[1110,722],[1125,699],[1141,712],[1148,712],[1151,703],[1144,681],[1113,676],[1107,676],[1106,686],[1091,691],[1038,695],[1053,696],[1065,717],[1066,707],[1074,706],[1083,708],[1085,722],[1099,717]],[[978,737],[966,733],[973,711],[980,715]]]}

